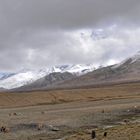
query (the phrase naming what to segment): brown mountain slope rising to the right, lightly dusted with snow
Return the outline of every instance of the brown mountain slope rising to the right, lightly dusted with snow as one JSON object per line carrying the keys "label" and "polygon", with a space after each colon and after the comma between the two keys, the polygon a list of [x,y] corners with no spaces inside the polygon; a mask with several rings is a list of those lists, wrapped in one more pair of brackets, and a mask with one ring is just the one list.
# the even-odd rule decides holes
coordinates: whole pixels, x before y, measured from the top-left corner
{"label": "brown mountain slope rising to the right, lightly dusted with snow", "polygon": [[90,73],[64,81],[57,88],[76,88],[83,86],[101,86],[115,83],[140,81],[140,52],[119,64],[101,67]]}

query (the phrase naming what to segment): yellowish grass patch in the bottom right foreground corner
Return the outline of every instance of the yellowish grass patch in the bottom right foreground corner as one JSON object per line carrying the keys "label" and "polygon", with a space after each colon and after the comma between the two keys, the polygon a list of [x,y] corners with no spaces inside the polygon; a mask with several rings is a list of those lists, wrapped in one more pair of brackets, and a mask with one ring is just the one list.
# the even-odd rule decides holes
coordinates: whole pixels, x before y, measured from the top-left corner
{"label": "yellowish grass patch in the bottom right foreground corner", "polygon": [[[140,140],[140,124],[126,124],[107,129],[97,129],[97,140]],[[104,136],[104,134],[107,134]],[[65,140],[91,140],[91,130],[79,131]]]}

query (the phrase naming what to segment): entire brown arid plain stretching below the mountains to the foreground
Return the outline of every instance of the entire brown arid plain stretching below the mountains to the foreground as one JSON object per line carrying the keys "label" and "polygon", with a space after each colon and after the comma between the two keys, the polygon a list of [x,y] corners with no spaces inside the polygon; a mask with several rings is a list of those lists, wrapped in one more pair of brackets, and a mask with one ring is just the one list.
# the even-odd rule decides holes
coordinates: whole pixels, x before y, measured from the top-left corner
{"label": "entire brown arid plain stretching below the mountains to the foreground", "polygon": [[0,93],[2,126],[0,140],[140,140],[140,83]]}

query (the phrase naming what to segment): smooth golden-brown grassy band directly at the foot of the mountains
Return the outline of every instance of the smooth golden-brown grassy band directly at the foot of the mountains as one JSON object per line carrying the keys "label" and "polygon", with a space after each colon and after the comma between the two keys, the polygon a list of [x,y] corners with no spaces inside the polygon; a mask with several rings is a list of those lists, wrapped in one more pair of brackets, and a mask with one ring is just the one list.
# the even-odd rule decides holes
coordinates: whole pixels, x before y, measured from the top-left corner
{"label": "smooth golden-brown grassy band directly at the foot of the mountains", "polygon": [[140,97],[140,83],[103,88],[0,93],[0,108],[137,97]]}

